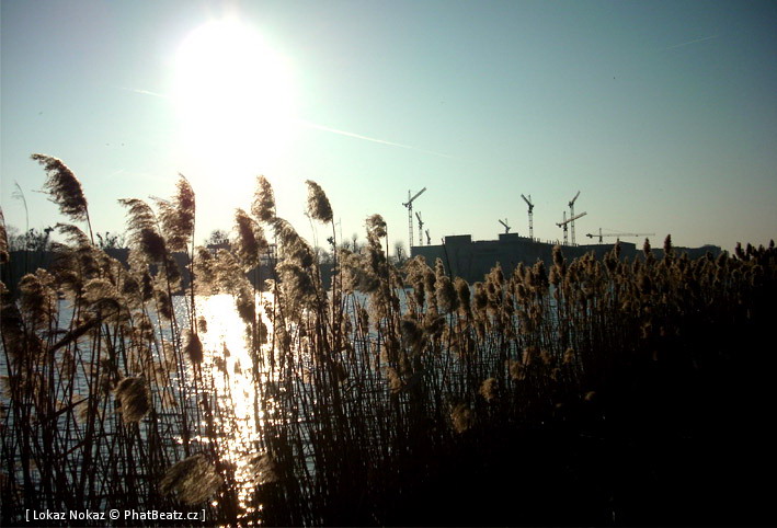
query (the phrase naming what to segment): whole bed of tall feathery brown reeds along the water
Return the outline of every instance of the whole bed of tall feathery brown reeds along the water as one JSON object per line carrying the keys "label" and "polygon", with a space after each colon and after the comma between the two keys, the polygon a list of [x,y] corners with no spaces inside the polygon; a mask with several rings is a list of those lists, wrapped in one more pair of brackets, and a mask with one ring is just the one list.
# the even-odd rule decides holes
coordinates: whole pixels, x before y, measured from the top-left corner
{"label": "whole bed of tall feathery brown reeds along the water", "polygon": [[[68,176],[47,184],[62,214],[88,220],[75,175],[35,159]],[[336,248],[329,200],[308,188],[309,217]],[[747,444],[742,459],[774,461],[761,459],[774,358],[757,344],[775,315],[774,243],[695,261],[669,237],[633,262],[617,245],[572,262],[557,248],[549,269],[496,265],[470,285],[439,261],[397,268],[375,215],[361,252],[338,250],[324,288],[264,177],[215,255],[193,246],[185,179],[169,200],[122,205],[128,268],[60,225],[57,265],[23,277],[19,299],[3,288],[3,526],[43,507],[205,508],[208,524],[271,526],[766,513],[747,503],[762,496],[754,485],[725,482],[747,472],[720,450]],[[277,262],[260,295],[248,274],[268,237]],[[174,251],[188,255],[186,291]],[[217,382],[228,351],[201,340],[195,295],[208,292],[229,292],[244,326],[255,434],[240,438],[242,469],[240,417]]]}

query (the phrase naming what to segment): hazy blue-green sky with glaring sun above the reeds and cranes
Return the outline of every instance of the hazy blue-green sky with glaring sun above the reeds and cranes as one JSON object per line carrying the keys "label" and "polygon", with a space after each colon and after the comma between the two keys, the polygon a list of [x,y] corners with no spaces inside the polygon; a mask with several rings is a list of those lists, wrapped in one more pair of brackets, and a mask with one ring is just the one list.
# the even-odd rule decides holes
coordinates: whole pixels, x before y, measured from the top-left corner
{"label": "hazy blue-green sky with glaring sun above the reeds and cranes", "polygon": [[308,238],[308,179],[344,238],[379,213],[391,245],[422,187],[433,243],[495,239],[500,219],[527,234],[522,194],[535,237],[561,239],[578,191],[579,243],[777,238],[774,1],[2,0],[1,15],[0,198],[20,229],[14,183],[31,228],[62,221],[36,192],[42,152],[79,176],[100,232],[124,231],[118,198],[169,197],[180,172],[198,243],[231,229],[260,173]]}

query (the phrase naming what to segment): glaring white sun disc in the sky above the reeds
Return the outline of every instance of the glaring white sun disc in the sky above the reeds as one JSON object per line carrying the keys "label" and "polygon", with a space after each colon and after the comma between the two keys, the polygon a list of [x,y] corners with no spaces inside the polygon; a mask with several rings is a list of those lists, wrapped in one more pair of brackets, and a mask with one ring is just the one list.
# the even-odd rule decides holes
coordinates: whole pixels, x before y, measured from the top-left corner
{"label": "glaring white sun disc in the sky above the reeds", "polygon": [[176,53],[174,76],[181,147],[204,170],[242,176],[289,140],[288,65],[250,25],[225,19],[197,27]]}

